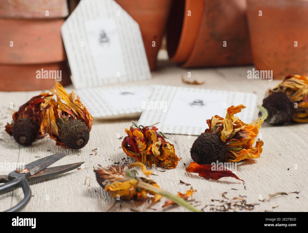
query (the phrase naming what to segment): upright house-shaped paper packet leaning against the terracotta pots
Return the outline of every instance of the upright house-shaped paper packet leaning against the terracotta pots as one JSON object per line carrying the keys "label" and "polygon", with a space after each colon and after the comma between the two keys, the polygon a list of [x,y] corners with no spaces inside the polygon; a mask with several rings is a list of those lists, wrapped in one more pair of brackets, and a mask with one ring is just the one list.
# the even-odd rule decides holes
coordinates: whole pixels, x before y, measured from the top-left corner
{"label": "upright house-shaped paper packet leaning against the terracotta pots", "polygon": [[113,0],[81,0],[61,34],[75,88],[151,78],[139,25]]}

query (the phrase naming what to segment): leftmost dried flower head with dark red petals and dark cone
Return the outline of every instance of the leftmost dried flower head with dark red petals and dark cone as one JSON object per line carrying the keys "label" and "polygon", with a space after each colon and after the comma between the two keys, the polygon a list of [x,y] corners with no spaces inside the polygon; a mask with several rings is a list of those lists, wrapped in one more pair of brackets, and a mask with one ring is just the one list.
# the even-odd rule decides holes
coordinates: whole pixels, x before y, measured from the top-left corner
{"label": "leftmost dried flower head with dark red petals and dark cone", "polygon": [[40,133],[43,109],[49,104],[52,95],[42,93],[32,97],[12,116],[13,121],[5,126],[5,131],[21,145],[31,145]]}

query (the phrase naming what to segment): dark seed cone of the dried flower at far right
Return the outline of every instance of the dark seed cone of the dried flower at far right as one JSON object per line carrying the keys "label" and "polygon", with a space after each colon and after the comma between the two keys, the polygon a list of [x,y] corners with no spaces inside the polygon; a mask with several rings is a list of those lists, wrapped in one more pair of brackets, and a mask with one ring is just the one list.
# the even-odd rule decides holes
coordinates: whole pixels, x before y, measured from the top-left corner
{"label": "dark seed cone of the dried flower at far right", "polygon": [[[283,92],[273,92],[263,99],[262,107],[268,112],[265,122],[272,125],[283,125],[290,123],[294,114],[294,104]],[[259,116],[262,113],[259,112]]]}

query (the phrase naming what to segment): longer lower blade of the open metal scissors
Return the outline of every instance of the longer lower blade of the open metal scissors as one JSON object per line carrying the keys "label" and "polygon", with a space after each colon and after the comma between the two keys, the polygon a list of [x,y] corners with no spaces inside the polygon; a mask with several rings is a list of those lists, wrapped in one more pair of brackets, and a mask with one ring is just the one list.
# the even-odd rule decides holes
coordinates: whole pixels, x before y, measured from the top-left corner
{"label": "longer lower blade of the open metal scissors", "polygon": [[68,171],[74,170],[82,165],[84,162],[72,163],[62,166],[56,166],[51,168],[45,168],[42,171],[35,173],[34,175],[27,178],[28,182],[45,179],[48,177],[57,176]]}

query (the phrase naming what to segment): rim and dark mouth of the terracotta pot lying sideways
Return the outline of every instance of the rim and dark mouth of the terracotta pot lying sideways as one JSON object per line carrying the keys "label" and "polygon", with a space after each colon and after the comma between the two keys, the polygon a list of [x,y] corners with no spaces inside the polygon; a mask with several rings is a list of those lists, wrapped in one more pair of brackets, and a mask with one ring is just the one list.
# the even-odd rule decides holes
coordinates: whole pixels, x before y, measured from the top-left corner
{"label": "rim and dark mouth of the terracotta pot lying sideways", "polygon": [[[172,2],[167,26],[167,50],[173,62],[183,63],[188,59],[199,32],[203,9],[203,0],[175,0]],[[190,10],[191,16],[188,16],[188,10]]]}

